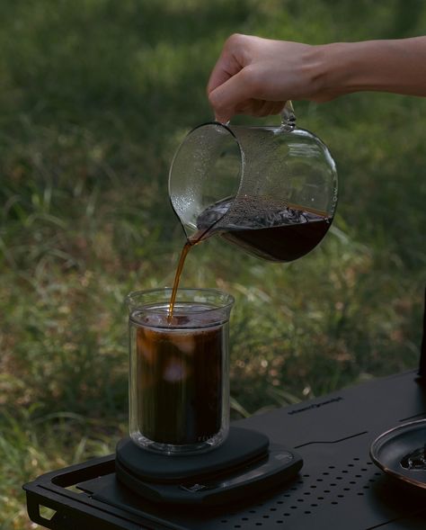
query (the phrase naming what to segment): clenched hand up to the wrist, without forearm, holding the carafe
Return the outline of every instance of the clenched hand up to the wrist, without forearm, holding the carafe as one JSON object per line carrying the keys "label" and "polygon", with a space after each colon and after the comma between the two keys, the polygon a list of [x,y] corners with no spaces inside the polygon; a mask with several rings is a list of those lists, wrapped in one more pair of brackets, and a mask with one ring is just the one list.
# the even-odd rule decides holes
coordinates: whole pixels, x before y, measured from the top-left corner
{"label": "clenched hand up to the wrist, without forearm, holding the carafe", "polygon": [[236,113],[278,114],[288,99],[332,99],[321,89],[321,56],[321,47],[232,35],[207,87],[217,121],[229,121]]}

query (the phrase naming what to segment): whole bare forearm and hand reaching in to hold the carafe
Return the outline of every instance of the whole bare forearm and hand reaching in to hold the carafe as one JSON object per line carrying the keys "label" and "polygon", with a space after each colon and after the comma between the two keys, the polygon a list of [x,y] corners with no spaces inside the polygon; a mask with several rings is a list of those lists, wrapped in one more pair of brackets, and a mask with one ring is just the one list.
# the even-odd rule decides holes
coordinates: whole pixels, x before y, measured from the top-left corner
{"label": "whole bare forearm and hand reaching in to hold the carafe", "polygon": [[426,96],[426,36],[310,46],[235,34],[207,87],[222,122],[279,113],[288,99],[319,103],[363,90]]}

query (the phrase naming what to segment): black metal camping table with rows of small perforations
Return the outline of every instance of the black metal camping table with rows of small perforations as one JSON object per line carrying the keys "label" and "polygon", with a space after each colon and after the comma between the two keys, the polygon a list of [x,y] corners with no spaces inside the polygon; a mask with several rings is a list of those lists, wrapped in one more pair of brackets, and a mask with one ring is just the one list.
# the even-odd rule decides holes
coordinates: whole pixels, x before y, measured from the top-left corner
{"label": "black metal camping table with rows of small perforations", "polygon": [[235,422],[303,456],[299,475],[280,490],[223,508],[153,505],[116,481],[111,455],[26,484],[29,515],[52,529],[424,530],[426,490],[380,472],[368,456],[380,433],[420,418],[425,384],[401,373]]}

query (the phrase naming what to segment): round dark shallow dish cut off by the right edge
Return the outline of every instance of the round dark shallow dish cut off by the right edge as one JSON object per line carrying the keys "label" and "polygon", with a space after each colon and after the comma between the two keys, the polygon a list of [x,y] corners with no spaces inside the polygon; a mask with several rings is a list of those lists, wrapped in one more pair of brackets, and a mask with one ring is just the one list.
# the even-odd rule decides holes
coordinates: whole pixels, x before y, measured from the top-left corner
{"label": "round dark shallow dish cut off by the right edge", "polygon": [[371,460],[400,481],[426,489],[426,419],[395,427],[373,442]]}

